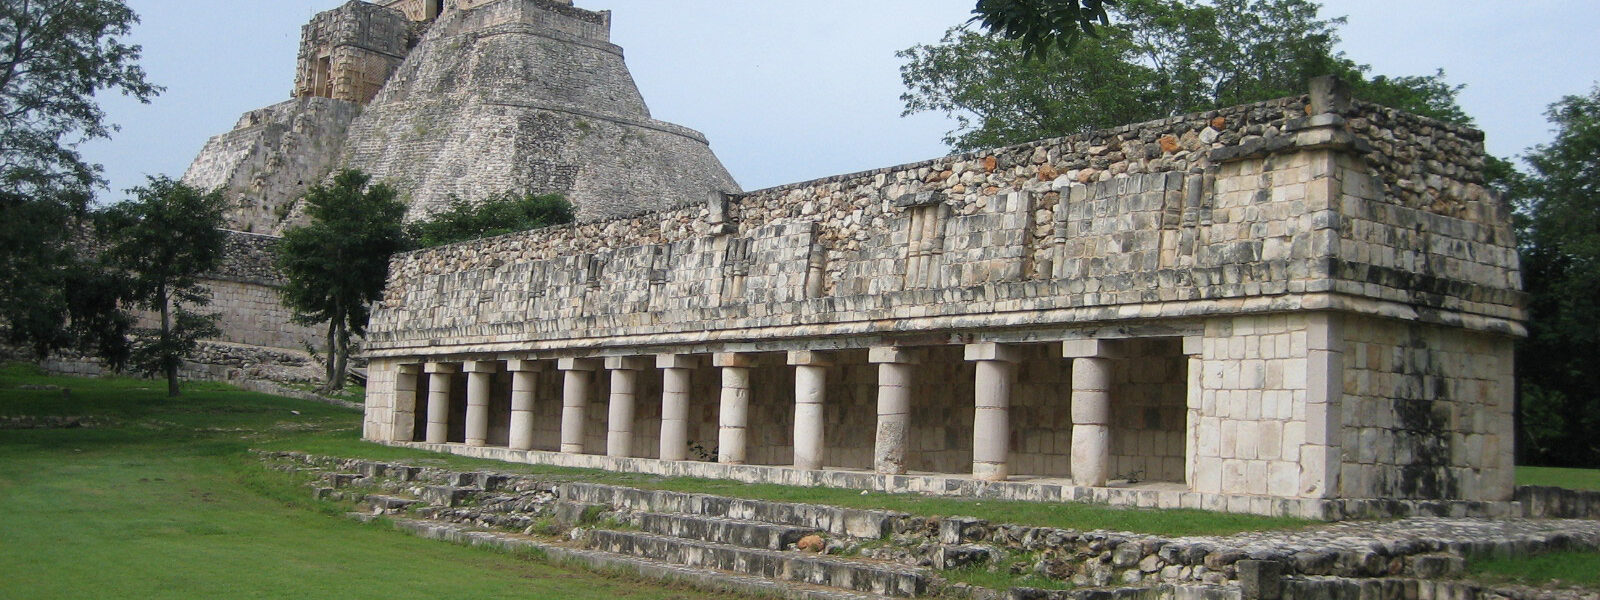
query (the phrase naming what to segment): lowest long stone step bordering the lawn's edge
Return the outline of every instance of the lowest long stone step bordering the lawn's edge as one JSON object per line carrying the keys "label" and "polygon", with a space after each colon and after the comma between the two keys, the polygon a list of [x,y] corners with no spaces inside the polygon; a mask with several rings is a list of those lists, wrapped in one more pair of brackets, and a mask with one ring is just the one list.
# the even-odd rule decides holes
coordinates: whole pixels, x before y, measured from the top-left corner
{"label": "lowest long stone step bordering the lawn's edge", "polygon": [[[355,517],[355,515],[352,515]],[[827,589],[803,582],[778,581],[749,574],[710,571],[704,568],[674,565],[646,557],[630,557],[592,549],[576,549],[560,544],[542,542],[533,538],[475,531],[454,523],[438,523],[418,518],[395,518],[395,528],[411,534],[440,539],[462,546],[482,546],[499,550],[533,550],[547,560],[563,565],[584,566],[603,573],[626,573],[638,578],[667,581],[691,586],[701,590],[747,594],[760,598],[784,600],[886,600],[883,595],[859,594],[842,589]]]}

